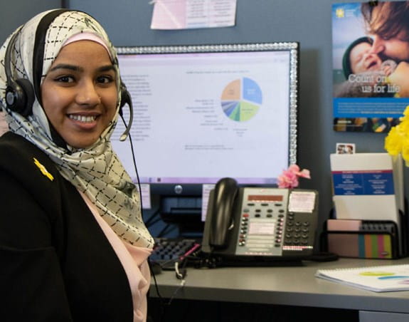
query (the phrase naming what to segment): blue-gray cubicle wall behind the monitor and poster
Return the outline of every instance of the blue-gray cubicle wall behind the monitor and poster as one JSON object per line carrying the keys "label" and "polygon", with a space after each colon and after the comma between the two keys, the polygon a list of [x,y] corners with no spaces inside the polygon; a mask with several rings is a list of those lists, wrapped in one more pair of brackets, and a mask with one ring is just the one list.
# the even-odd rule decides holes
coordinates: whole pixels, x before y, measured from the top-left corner
{"label": "blue-gray cubicle wall behind the monitor and poster", "polygon": [[[6,1],[0,13],[4,41],[36,12],[58,7],[61,1]],[[238,0],[236,26],[181,31],[150,29],[150,0],[70,0],[99,19],[115,46],[299,41],[300,105],[298,162],[311,170],[302,187],[320,194],[320,221],[332,207],[329,154],[336,142],[354,142],[357,152],[384,152],[385,134],[336,133],[332,130],[331,0]],[[152,151],[154,152],[154,151]]]}

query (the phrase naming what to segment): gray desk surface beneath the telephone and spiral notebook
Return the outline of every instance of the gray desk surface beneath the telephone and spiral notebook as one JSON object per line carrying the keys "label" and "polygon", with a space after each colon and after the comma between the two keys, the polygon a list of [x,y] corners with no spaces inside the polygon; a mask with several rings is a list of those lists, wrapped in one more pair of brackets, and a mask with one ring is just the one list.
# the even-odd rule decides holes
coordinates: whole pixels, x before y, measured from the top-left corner
{"label": "gray desk surface beneath the telephone and spiral notebook", "polygon": [[[180,281],[173,271],[162,272],[156,281],[163,298],[339,308],[358,311],[362,322],[409,321],[409,291],[376,293],[314,277],[317,269],[407,263],[409,259],[339,259],[304,261],[302,266],[287,267],[192,268],[188,269],[186,284],[176,295]],[[151,296],[157,296],[153,279]]]}

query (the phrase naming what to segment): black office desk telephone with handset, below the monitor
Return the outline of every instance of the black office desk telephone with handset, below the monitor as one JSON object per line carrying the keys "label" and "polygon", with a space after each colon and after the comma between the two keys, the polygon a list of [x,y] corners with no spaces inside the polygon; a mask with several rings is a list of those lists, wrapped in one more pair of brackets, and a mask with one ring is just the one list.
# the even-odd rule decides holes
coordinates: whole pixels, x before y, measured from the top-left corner
{"label": "black office desk telephone with handset, below the monitor", "polygon": [[202,251],[236,259],[306,258],[314,250],[317,209],[314,190],[238,187],[223,178],[209,195]]}

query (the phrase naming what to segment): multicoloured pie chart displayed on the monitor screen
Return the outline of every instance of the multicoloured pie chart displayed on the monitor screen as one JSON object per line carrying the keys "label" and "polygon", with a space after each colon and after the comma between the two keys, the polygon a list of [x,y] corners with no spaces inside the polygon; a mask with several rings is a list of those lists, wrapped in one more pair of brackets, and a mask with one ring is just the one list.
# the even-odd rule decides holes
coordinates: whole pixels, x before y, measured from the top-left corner
{"label": "multicoloured pie chart displayed on the monitor screen", "polygon": [[228,118],[237,122],[244,122],[253,118],[260,110],[261,104],[260,86],[247,77],[228,83],[221,95],[223,112]]}

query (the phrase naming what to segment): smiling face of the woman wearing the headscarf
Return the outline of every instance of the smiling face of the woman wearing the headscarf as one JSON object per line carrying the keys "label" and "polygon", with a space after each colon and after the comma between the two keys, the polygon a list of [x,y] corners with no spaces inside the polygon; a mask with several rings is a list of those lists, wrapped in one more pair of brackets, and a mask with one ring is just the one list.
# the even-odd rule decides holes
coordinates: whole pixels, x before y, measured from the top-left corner
{"label": "smiling face of the woman wearing the headscarf", "polygon": [[117,73],[95,41],[64,46],[41,85],[43,109],[68,145],[89,147],[107,128],[117,107]]}

